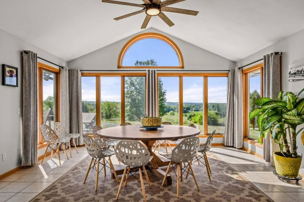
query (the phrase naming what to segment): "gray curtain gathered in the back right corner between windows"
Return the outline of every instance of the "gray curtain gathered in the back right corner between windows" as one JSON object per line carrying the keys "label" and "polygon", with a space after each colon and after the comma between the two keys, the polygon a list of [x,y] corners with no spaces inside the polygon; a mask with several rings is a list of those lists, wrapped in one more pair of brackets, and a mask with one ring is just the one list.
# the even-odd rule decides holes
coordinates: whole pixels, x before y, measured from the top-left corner
{"label": "gray curtain gathered in the back right corner between windows", "polygon": [[228,74],[227,110],[223,144],[243,147],[242,71],[231,69]]}

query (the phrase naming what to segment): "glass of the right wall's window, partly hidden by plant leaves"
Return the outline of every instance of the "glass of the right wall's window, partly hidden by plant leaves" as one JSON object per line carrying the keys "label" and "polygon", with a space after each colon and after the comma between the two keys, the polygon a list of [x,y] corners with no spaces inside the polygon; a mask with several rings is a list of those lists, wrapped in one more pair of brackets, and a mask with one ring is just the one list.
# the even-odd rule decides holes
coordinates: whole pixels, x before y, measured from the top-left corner
{"label": "glass of the right wall's window, partly hidden by plant leaves", "polygon": [[[248,74],[249,83],[249,95],[248,95],[248,111],[252,111],[257,108],[254,101],[257,98],[261,98],[261,71],[255,71]],[[259,127],[257,125],[257,117],[249,120],[249,137],[253,139],[258,139],[259,137]]]}

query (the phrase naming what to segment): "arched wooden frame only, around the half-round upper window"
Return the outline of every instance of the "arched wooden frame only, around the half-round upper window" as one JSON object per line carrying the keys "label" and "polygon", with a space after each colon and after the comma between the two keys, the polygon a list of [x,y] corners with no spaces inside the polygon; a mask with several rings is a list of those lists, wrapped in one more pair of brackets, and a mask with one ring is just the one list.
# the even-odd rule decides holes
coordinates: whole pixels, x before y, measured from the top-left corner
{"label": "arched wooden frame only, around the half-round upper window", "polygon": [[123,49],[120,51],[119,54],[119,58],[118,58],[118,65],[117,68],[147,68],[148,66],[122,66],[123,65],[123,58],[126,54],[126,52],[128,51],[128,49],[137,41],[140,41],[142,39],[146,39],[146,38],[156,38],[156,39],[160,39],[164,42],[166,42],[168,45],[170,45],[173,50],[175,51],[178,61],[179,61],[179,66],[149,66],[149,67],[153,67],[153,68],[180,68],[183,69],[184,68],[184,60],[183,60],[183,56],[181,55],[181,51],[179,50],[178,46],[174,43],[174,41],[172,41],[170,38],[166,37],[165,35],[162,34],[158,34],[158,33],[153,33],[153,32],[149,32],[149,33],[143,33],[140,35],[137,35],[133,38],[131,38],[126,45],[124,45]]}

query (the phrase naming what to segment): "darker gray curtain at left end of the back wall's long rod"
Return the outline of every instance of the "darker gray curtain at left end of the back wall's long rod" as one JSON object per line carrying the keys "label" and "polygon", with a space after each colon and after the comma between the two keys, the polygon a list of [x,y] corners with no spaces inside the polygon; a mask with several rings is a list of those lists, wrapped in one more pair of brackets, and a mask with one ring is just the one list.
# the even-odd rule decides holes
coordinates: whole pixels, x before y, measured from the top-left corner
{"label": "darker gray curtain at left end of the back wall's long rod", "polygon": [[[70,69],[69,79],[69,104],[70,104],[70,133],[82,134],[82,110],[81,110],[81,72],[79,69]],[[75,139],[76,145],[83,145],[80,135]]]}

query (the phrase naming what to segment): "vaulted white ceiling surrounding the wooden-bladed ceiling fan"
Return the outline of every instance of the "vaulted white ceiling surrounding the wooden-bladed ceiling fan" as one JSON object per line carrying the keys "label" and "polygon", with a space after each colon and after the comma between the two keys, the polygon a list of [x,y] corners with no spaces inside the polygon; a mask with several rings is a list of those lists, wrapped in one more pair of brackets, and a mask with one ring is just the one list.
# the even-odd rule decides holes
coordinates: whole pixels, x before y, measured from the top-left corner
{"label": "vaulted white ceiling surrounding the wooden-bladed ceiling fan", "polygon": [[[304,28],[303,0],[186,0],[170,7],[199,14],[166,12],[173,27],[156,16],[147,28],[233,61]],[[0,0],[0,28],[70,61],[142,31],[145,13],[113,20],[140,9],[101,0]]]}

